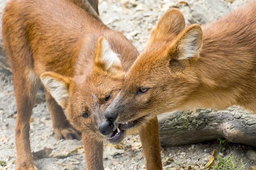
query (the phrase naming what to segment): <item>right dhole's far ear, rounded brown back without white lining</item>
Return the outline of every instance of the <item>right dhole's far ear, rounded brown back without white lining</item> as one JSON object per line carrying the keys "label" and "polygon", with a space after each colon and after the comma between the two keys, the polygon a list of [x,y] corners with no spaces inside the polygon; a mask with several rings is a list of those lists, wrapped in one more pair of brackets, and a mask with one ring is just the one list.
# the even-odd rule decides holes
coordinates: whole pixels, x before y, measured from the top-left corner
{"label": "right dhole's far ear, rounded brown back without white lining", "polygon": [[167,11],[151,33],[152,39],[177,36],[185,28],[185,19],[178,9]]}

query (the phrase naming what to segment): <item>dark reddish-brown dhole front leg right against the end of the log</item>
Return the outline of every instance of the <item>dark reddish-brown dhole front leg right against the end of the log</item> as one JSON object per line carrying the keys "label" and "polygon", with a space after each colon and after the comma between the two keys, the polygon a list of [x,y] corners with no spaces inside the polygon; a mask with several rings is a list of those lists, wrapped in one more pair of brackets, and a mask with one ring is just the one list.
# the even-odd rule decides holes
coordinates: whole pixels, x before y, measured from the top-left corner
{"label": "dark reddish-brown dhole front leg right against the end of the log", "polygon": [[147,170],[163,170],[157,117],[140,129],[140,140]]}

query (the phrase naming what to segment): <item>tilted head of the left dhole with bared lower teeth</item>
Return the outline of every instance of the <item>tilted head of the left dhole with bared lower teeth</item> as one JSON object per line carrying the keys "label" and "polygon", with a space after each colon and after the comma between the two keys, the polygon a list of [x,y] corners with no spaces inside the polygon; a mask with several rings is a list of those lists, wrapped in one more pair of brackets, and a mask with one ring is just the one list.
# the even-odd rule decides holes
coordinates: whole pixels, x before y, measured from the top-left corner
{"label": "tilted head of the left dhole with bared lower teeth", "polygon": [[41,81],[77,130],[97,140],[118,143],[125,130],[119,130],[103,112],[120,91],[124,72],[118,55],[105,38],[99,37],[97,41],[92,69],[84,69],[86,74],[73,78],[44,72]]}

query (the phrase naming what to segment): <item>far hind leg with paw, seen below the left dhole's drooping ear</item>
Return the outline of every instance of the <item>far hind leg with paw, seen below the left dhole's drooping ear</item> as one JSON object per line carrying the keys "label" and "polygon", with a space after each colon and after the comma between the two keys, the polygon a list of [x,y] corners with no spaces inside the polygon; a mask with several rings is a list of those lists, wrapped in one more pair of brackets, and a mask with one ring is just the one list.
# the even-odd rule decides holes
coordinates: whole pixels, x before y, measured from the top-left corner
{"label": "far hind leg with paw, seen below the left dhole's drooping ear", "polygon": [[56,139],[81,139],[79,133],[73,129],[72,125],[67,121],[64,111],[55,101],[51,94],[45,89],[45,97],[49,113],[52,117],[52,127]]}

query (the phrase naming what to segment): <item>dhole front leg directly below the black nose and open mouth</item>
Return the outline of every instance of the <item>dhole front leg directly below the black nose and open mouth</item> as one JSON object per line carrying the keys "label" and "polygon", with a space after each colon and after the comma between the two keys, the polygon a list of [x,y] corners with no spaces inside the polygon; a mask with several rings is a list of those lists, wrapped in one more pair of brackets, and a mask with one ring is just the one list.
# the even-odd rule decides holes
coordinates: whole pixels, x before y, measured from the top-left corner
{"label": "dhole front leg directly below the black nose and open mouth", "polygon": [[93,139],[86,133],[83,133],[82,136],[87,170],[104,170],[103,142]]}

